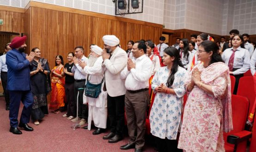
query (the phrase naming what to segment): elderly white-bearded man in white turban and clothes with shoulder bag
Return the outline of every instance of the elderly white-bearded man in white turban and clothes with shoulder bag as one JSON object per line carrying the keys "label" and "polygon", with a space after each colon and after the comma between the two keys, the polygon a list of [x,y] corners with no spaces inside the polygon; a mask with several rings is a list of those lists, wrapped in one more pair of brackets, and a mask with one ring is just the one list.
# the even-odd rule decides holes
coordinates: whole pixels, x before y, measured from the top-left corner
{"label": "elderly white-bearded man in white turban and clothes with shoulder bag", "polygon": [[[103,91],[103,74],[105,68],[102,67],[103,59],[101,57],[102,49],[97,45],[91,45],[90,57],[87,63],[78,62],[83,68],[82,73],[87,74],[87,83],[100,84],[101,93],[97,98],[85,96],[83,93],[83,104],[88,103],[88,126],[84,128],[91,129],[91,121],[93,120],[97,129],[93,135],[101,134],[107,127],[107,91]],[[89,82],[88,82],[89,81]],[[85,86],[86,88],[86,86]],[[85,89],[86,91],[86,89]]]}

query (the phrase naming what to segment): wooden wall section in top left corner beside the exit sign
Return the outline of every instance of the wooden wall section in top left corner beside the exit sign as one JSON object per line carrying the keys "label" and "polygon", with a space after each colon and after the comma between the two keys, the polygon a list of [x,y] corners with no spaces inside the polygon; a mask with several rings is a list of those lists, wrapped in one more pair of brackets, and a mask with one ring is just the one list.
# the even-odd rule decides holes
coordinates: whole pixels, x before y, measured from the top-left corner
{"label": "wooden wall section in top left corner beside the exit sign", "polygon": [[24,13],[1,10],[0,18],[4,24],[0,25],[0,32],[24,33]]}

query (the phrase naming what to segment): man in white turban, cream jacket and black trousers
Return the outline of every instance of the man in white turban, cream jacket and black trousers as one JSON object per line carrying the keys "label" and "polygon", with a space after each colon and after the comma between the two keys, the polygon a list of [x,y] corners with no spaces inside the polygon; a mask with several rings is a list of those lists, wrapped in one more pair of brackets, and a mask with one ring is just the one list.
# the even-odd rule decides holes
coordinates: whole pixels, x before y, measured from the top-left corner
{"label": "man in white turban, cream jacket and black trousers", "polygon": [[121,49],[119,39],[115,35],[105,35],[102,58],[105,70],[104,90],[107,90],[107,112],[110,120],[111,132],[103,139],[115,143],[123,139],[122,132],[125,125],[125,80],[120,78],[121,71],[126,67],[127,54]]}

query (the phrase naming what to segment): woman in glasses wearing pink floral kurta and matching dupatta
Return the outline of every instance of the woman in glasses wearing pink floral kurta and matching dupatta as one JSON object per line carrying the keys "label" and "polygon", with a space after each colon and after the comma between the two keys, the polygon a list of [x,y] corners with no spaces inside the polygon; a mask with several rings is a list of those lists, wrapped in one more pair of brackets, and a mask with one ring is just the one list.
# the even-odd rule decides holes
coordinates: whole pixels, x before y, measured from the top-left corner
{"label": "woman in glasses wearing pink floral kurta and matching dupatta", "polygon": [[189,92],[184,109],[178,148],[186,152],[225,152],[223,130],[232,130],[231,82],[229,69],[218,46],[203,41],[197,64],[187,83]]}

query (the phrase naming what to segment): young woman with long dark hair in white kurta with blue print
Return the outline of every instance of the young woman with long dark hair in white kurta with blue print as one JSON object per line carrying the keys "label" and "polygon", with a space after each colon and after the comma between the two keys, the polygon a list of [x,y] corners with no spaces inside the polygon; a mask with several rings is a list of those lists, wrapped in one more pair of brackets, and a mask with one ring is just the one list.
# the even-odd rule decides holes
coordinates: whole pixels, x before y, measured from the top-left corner
{"label": "young woman with long dark hair in white kurta with blue print", "polygon": [[164,50],[163,63],[166,67],[159,68],[152,80],[156,96],[149,116],[150,132],[157,137],[159,152],[177,152],[176,139],[181,126],[187,71],[175,47],[169,46]]}

